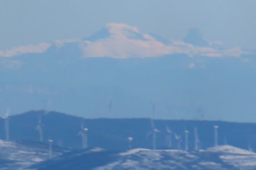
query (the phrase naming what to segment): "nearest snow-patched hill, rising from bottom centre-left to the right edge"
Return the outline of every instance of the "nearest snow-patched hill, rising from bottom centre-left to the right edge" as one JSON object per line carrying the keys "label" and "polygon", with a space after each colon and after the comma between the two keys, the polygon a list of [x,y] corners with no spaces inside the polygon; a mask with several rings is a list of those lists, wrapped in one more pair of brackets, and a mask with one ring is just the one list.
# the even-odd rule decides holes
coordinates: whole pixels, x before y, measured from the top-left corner
{"label": "nearest snow-patched hill, rising from bottom centre-left to the right edge", "polygon": [[186,152],[135,148],[127,152],[94,149],[35,164],[36,169],[255,169],[256,154],[229,145]]}

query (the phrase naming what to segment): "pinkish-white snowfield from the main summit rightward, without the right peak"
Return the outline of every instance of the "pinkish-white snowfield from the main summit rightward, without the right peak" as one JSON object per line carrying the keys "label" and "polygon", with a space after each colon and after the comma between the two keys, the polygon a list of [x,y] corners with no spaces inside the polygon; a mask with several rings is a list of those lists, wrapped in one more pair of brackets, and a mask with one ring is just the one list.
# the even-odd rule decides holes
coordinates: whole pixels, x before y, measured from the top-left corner
{"label": "pinkish-white snowfield from the main summit rightward, without the right peak", "polygon": [[[240,47],[221,50],[209,46],[194,46],[182,41],[165,44],[149,34],[140,33],[135,26],[122,23],[106,25],[109,36],[96,41],[85,40],[82,44],[84,57],[111,57],[127,59],[130,57],[159,57],[170,54],[201,55],[204,57],[239,57],[244,54]],[[218,43],[220,44],[220,43]]]}

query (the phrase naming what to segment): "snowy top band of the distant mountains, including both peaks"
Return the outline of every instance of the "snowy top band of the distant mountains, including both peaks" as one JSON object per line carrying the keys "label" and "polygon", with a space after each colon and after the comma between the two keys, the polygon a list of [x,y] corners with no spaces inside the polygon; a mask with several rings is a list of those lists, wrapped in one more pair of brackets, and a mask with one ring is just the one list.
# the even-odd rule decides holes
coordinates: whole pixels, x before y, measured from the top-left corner
{"label": "snowy top band of the distant mountains, including both peaks", "polygon": [[[160,40],[162,39],[162,40]],[[184,41],[166,41],[150,34],[140,32],[136,26],[123,23],[108,23],[105,28],[85,39],[58,40],[52,43],[14,47],[0,51],[0,57],[14,57],[22,54],[42,54],[53,48],[63,49],[69,44],[76,44],[80,57],[110,57],[114,59],[160,57],[171,54],[187,54],[204,57],[239,57],[242,49],[218,49],[215,42],[203,38],[198,29],[191,29]],[[218,43],[217,43],[218,44]],[[220,45],[220,43],[219,43]]]}

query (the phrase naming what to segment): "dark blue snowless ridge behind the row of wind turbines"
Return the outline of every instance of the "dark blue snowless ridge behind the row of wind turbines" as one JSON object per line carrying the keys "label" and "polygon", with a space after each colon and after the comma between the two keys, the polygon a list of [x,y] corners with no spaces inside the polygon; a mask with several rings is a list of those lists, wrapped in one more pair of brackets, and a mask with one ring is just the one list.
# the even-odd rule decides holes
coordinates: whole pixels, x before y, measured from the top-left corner
{"label": "dark blue snowless ridge behind the row of wind turbines", "polygon": [[[10,140],[32,140],[39,142],[40,133],[36,127],[41,118],[43,142],[48,144],[52,139],[55,145],[80,149],[82,139],[79,136],[81,126],[88,128],[88,147],[106,148],[111,150],[127,150],[130,146],[128,137],[132,137],[133,148],[152,148],[152,127],[148,118],[132,119],[84,119],[65,115],[55,111],[29,111],[21,115],[11,116]],[[218,128],[218,144],[233,145],[234,147],[256,148],[255,123],[232,123],[225,121],[189,121],[189,120],[161,120],[155,119],[155,128],[160,131],[156,134],[156,148],[185,149],[184,131],[189,131],[189,150],[194,150],[194,127],[198,129],[198,148],[208,148],[214,145],[213,126]],[[171,130],[171,145],[168,145],[168,131]],[[181,137],[179,140],[176,136]],[[3,119],[0,119],[0,139],[6,139]]]}

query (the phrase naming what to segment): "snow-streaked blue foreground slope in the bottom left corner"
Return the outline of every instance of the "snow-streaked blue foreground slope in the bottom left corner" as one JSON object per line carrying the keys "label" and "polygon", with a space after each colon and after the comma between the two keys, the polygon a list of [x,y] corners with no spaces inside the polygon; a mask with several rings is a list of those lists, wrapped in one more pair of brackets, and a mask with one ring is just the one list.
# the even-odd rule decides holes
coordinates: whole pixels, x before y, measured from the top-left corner
{"label": "snow-streaked blue foreground slope in the bottom left corner", "polygon": [[[60,156],[69,150],[53,147],[53,156]],[[35,163],[49,159],[48,145],[33,142],[7,142],[0,139],[0,169],[27,169]]]}

